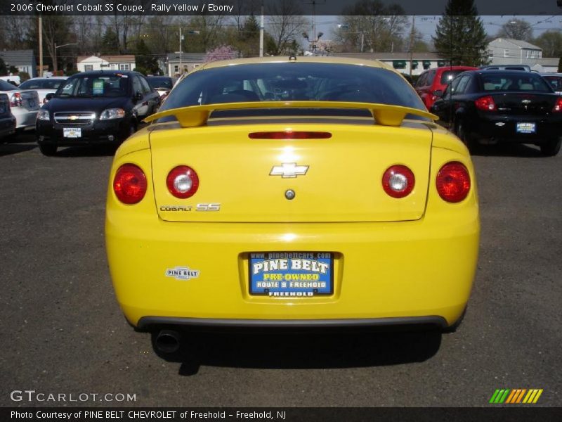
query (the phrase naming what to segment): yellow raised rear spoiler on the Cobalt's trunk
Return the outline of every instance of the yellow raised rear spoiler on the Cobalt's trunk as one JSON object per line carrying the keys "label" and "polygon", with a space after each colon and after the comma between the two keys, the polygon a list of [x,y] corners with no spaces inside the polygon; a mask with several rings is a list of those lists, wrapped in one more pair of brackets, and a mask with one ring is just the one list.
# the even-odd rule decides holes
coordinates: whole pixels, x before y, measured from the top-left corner
{"label": "yellow raised rear spoiler on the Cobalt's trunk", "polygon": [[406,115],[417,115],[437,120],[438,116],[417,108],[391,106],[378,103],[346,103],[343,101],[255,101],[251,103],[220,103],[204,106],[171,108],[145,118],[152,122],[162,117],[174,116],[181,127],[200,127],[207,123],[215,110],[242,110],[248,108],[358,108],[370,110],[374,120],[384,126],[400,126]]}

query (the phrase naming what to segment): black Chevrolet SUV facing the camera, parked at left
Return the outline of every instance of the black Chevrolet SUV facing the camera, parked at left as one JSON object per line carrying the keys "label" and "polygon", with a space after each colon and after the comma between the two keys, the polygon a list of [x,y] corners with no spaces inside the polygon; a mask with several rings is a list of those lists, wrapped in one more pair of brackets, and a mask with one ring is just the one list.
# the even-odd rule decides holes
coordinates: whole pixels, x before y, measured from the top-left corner
{"label": "black Chevrolet SUV facing the camera, parked at left", "polygon": [[143,75],[116,70],[77,73],[47,98],[36,124],[44,155],[54,155],[58,146],[118,145],[160,103]]}

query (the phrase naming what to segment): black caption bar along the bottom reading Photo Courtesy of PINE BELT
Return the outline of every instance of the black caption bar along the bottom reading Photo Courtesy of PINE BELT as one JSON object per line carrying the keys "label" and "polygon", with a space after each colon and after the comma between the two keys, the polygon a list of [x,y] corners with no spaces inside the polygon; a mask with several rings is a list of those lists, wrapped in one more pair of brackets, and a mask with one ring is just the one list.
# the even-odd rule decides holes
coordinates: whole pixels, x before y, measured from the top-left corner
{"label": "black caption bar along the bottom reading Photo Courtesy of PINE BELT", "polygon": [[[523,407],[525,406],[525,407]],[[493,406],[487,408],[4,408],[2,422],[12,421],[256,421],[256,422],[554,422],[562,420],[560,407],[534,405]]]}

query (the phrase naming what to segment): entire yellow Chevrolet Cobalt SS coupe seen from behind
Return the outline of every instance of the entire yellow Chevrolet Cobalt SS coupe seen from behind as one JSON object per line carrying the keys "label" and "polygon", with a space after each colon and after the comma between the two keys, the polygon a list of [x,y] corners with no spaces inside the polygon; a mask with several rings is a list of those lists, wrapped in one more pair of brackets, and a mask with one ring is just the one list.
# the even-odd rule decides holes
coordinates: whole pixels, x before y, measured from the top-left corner
{"label": "entire yellow Chevrolet Cobalt SS coupe seen from behind", "polygon": [[451,328],[478,256],[470,155],[383,63],[209,63],[115,155],[107,257],[126,319]]}

